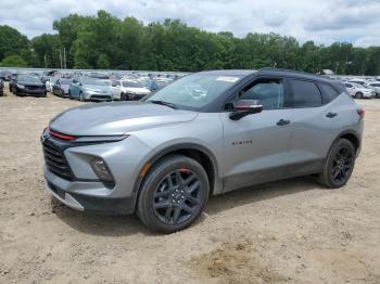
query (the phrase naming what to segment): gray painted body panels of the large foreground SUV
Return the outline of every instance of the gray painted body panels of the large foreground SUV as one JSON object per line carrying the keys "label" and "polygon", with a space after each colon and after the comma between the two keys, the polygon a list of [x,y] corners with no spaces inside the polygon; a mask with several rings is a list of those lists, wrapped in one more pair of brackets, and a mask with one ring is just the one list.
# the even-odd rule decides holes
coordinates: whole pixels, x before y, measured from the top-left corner
{"label": "gray painted body panels of the large foreground SUV", "polygon": [[[214,194],[241,186],[319,172],[330,145],[343,132],[362,138],[359,107],[346,94],[320,107],[263,111],[240,120],[229,113],[197,113],[144,102],[89,104],[55,117],[50,127],[74,135],[129,134],[121,142],[69,147],[65,156],[81,179],[96,179],[89,165],[102,157],[115,188],[101,182],[68,182],[47,171],[46,179],[66,192],[130,197],[143,165],[166,149],[198,145],[213,156]],[[329,112],[338,116],[328,118]],[[278,126],[279,119],[291,124]]]}

